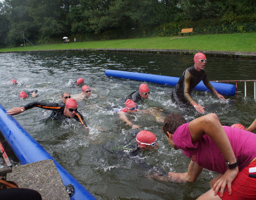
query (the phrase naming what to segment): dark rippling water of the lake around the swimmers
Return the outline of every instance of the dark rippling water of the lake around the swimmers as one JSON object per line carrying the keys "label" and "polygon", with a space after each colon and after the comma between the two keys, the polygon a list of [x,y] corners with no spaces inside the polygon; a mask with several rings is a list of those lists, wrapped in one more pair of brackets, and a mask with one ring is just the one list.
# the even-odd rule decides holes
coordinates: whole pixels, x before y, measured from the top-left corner
{"label": "dark rippling water of the lake around the swimmers", "polygon": [[[210,80],[256,79],[256,60],[207,57],[206,70]],[[50,111],[33,108],[15,116],[15,119],[41,145],[65,167],[97,199],[195,199],[209,188],[215,175],[204,170],[196,183],[173,183],[149,179],[146,163],[162,167],[165,171],[185,172],[189,159],[175,151],[161,133],[162,124],[146,114],[131,116],[134,124],[154,132],[159,148],[144,152],[138,157],[111,150],[132,139],[130,127],[119,120],[111,108],[122,108],[121,99],[134,90],[140,82],[106,77],[106,69],[135,71],[179,77],[183,70],[193,65],[191,55],[142,54],[118,52],[38,52],[0,54],[0,98],[6,110],[21,107],[34,100],[59,102],[61,92],[71,95],[81,92],[81,87],[71,87],[69,79],[82,77],[93,89],[88,100],[78,102],[90,131],[73,119],[56,122],[46,119]],[[18,85],[10,80],[17,79]],[[26,87],[25,85],[30,85]],[[161,107],[185,115],[189,121],[201,116],[194,110],[173,105],[170,92],[173,87],[148,83],[150,97],[140,109]],[[241,123],[249,126],[255,119],[253,84],[247,84],[247,98],[243,97],[243,84],[238,97],[226,97],[226,102],[211,93],[194,92],[193,98],[206,113],[216,113],[223,123]],[[20,91],[38,90],[38,97],[20,100]]]}

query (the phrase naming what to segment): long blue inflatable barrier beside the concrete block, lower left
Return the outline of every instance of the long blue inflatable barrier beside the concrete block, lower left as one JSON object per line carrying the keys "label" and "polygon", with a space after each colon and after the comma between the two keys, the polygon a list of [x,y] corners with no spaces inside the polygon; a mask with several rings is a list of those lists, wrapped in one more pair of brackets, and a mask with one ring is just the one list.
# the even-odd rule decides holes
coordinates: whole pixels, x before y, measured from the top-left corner
{"label": "long blue inflatable barrier beside the concrete block, lower left", "polygon": [[27,131],[0,105],[0,131],[18,157],[21,164],[52,159],[65,186],[75,188],[71,200],[95,199],[72,175],[70,175]]}

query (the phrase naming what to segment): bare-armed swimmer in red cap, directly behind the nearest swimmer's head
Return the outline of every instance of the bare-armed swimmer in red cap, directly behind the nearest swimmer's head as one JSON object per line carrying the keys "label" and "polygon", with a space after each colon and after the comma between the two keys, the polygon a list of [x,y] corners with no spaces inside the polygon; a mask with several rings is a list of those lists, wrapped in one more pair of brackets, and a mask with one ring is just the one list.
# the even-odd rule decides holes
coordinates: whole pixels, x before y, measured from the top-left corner
{"label": "bare-armed swimmer in red cap, directly behind the nearest swimmer's head", "polygon": [[126,113],[136,113],[137,111],[139,111],[139,109],[137,109],[137,105],[136,103],[131,100],[131,99],[127,99],[125,101],[125,108],[122,108],[118,114],[119,117],[128,125],[132,126],[132,129],[138,129],[140,126],[139,125],[135,125],[133,124],[126,116]]}

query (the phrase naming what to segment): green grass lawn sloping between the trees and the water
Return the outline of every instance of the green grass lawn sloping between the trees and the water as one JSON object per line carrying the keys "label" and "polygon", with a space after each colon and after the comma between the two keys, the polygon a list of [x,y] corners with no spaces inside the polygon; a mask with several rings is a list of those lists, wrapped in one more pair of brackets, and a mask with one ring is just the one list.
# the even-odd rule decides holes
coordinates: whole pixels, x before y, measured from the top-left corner
{"label": "green grass lawn sloping between the trees and the water", "polygon": [[[78,38],[79,39],[79,38]],[[0,52],[61,49],[180,49],[212,51],[256,51],[256,33],[151,37],[108,41],[70,42],[0,49]]]}

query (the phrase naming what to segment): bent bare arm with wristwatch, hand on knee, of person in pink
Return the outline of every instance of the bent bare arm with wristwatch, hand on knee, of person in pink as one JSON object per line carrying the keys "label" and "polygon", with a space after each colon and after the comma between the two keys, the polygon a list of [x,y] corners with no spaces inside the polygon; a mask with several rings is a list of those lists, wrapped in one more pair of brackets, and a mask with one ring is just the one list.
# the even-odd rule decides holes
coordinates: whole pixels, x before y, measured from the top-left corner
{"label": "bent bare arm with wristwatch, hand on knee, of person in pink", "polygon": [[[227,134],[215,114],[208,114],[189,123],[189,130],[191,133],[192,142],[198,141],[204,134],[207,134],[220,149],[223,157],[229,163],[236,163],[234,151],[230,145]],[[235,169],[227,170],[221,179],[219,179],[213,186],[214,194],[216,195],[221,188],[221,196],[226,185],[228,186],[229,194],[231,194],[231,183],[238,174],[238,166]]]}

